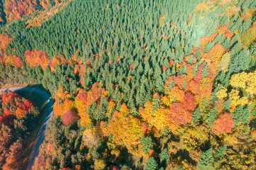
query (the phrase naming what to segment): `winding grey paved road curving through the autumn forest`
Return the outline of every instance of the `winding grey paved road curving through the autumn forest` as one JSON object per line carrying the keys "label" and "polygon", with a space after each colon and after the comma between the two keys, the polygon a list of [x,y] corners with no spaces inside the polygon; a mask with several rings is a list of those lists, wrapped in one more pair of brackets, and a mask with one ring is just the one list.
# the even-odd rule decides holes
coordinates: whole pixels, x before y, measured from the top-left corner
{"label": "winding grey paved road curving through the autumn forest", "polygon": [[33,91],[34,93],[38,94],[39,96],[42,96],[44,101],[46,103],[46,116],[43,120],[43,125],[41,129],[38,132],[38,137],[36,138],[36,143],[33,146],[33,151],[31,153],[31,156],[29,158],[27,169],[31,170],[33,163],[35,162],[36,157],[39,153],[39,147],[43,143],[44,138],[46,137],[46,127],[48,126],[48,120],[50,120],[51,115],[53,114],[53,101],[51,100],[50,96],[46,93],[46,91],[43,91],[41,89],[36,89],[33,87],[14,87],[9,89],[0,89],[0,91]]}

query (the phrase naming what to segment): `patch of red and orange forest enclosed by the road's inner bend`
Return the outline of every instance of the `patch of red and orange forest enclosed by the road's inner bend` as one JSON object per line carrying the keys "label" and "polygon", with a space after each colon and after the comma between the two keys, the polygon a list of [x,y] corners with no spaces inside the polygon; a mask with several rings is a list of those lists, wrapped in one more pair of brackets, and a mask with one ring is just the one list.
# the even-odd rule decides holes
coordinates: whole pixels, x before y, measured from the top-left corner
{"label": "patch of red and orange forest enclosed by the road's inner bend", "polygon": [[29,153],[28,140],[36,127],[39,111],[28,99],[14,92],[0,95],[0,166],[20,169]]}

